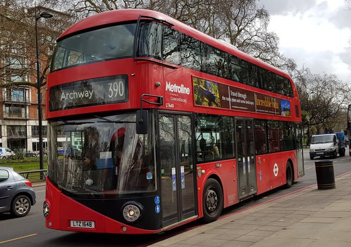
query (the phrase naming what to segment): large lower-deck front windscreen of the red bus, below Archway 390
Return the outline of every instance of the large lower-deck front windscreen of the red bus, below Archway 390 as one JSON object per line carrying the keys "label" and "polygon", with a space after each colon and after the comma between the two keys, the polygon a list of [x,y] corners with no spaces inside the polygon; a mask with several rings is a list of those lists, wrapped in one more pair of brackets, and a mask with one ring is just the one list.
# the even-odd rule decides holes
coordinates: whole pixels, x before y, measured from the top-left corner
{"label": "large lower-deck front windscreen of the red bus, below Archway 390", "polygon": [[135,133],[135,113],[50,121],[48,177],[79,197],[123,197],[154,191],[148,134]]}

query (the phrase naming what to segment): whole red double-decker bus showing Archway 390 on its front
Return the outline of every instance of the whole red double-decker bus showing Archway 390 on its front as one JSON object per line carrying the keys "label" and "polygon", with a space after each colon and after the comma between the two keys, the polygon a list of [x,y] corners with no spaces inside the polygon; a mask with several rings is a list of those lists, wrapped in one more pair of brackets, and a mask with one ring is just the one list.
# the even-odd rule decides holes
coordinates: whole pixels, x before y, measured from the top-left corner
{"label": "whole red double-decker bus showing Archway 390 on its front", "polygon": [[159,233],[304,175],[288,74],[164,14],[72,25],[47,87],[48,228]]}

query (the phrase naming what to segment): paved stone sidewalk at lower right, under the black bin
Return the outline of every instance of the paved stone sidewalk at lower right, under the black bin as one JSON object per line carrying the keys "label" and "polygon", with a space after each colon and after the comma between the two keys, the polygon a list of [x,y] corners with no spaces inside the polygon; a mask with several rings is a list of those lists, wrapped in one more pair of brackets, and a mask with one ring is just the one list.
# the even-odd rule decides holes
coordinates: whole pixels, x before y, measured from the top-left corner
{"label": "paved stone sidewalk at lower right, under the black bin", "polygon": [[154,243],[191,246],[351,246],[351,173]]}

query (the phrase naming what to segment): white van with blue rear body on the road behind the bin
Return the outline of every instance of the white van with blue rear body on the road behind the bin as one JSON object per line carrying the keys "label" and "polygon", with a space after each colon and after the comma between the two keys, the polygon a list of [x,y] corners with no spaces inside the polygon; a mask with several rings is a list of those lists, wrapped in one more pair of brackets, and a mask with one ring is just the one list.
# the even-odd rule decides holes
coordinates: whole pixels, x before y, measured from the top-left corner
{"label": "white van with blue rear body on the road behind the bin", "polygon": [[310,159],[316,156],[324,158],[326,156],[336,157],[337,154],[345,156],[346,143],[343,132],[315,134],[311,137]]}

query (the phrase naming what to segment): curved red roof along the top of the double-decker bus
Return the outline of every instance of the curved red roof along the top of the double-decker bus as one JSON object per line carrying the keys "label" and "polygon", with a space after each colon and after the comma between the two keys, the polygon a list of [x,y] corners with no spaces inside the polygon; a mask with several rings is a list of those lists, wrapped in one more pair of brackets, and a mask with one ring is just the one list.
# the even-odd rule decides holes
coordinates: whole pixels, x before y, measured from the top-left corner
{"label": "curved red roof along the top of the double-decker bus", "polygon": [[182,33],[185,33],[189,36],[192,36],[200,41],[203,41],[205,43],[208,43],[209,45],[212,45],[214,47],[217,47],[223,51],[229,52],[231,54],[235,54],[236,56],[247,60],[251,63],[254,63],[260,67],[264,67],[266,69],[269,69],[271,71],[274,71],[284,77],[287,77],[290,79],[290,76],[285,72],[282,71],[266,62],[263,62],[259,59],[256,59],[249,54],[240,51],[237,49],[235,46],[227,44],[226,42],[222,42],[220,40],[217,40],[207,34],[204,34],[191,26],[178,21],[168,15],[165,15],[163,13],[154,11],[154,10],[144,10],[144,9],[121,9],[121,10],[111,10],[107,12],[102,12],[98,13],[96,15],[87,17],[83,20],[78,21],[77,23],[73,24],[68,28],[64,33],[62,33],[58,39],[57,42],[66,38],[67,36],[71,36],[77,33],[80,33],[84,30],[91,30],[94,28],[97,28],[99,26],[105,26],[113,23],[118,23],[118,22],[125,22],[125,21],[136,21],[140,15],[143,16],[151,16],[160,20],[165,20],[167,22],[170,22],[173,24],[173,28],[179,30]]}

